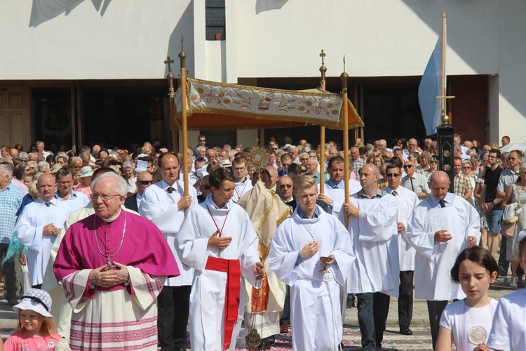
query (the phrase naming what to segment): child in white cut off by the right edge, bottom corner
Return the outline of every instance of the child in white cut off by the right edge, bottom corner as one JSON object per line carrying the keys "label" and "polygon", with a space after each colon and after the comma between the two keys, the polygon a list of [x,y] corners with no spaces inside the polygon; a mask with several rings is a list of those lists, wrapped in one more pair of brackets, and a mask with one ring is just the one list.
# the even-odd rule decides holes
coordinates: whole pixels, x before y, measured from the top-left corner
{"label": "child in white cut off by the right edge, bottom corner", "polygon": [[[526,173],[526,172],[525,172]],[[519,263],[526,268],[526,230],[518,233],[515,249]],[[526,289],[499,299],[487,347],[492,350],[526,350]]]}

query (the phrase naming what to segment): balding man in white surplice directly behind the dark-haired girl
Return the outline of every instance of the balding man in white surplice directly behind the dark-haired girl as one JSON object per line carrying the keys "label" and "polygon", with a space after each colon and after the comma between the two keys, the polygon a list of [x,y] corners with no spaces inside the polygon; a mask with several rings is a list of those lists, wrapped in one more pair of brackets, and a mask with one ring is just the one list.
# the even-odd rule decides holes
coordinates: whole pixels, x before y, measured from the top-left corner
{"label": "balding man in white surplice directly behind the dark-haired girl", "polygon": [[462,250],[478,243],[480,218],[468,201],[447,192],[447,173],[433,173],[429,185],[432,196],[414,208],[407,239],[417,250],[414,290],[416,298],[427,300],[434,349],[447,301],[466,297],[461,286],[452,281],[451,268]]}

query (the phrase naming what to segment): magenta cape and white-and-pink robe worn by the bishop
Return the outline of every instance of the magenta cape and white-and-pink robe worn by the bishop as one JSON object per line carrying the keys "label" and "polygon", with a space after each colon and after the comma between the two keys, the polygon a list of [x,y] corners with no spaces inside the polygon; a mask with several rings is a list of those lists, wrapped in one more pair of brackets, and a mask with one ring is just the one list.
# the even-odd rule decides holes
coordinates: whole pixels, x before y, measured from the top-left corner
{"label": "magenta cape and white-and-pink robe worn by the bishop", "polygon": [[[67,230],[53,265],[58,282],[73,308],[72,350],[156,350],[157,296],[166,277],[179,269],[166,240],[149,220],[121,211],[106,223],[96,215]],[[126,232],[123,228],[126,222]],[[129,282],[111,288],[93,286],[92,269],[112,263],[128,267]]]}

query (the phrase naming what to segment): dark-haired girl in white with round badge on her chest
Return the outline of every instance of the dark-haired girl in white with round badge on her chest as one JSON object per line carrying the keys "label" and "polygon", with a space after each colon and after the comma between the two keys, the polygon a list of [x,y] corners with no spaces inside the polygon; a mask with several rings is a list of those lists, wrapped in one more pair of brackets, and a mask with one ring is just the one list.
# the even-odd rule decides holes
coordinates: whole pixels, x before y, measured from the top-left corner
{"label": "dark-haired girl in white with round badge on her chest", "polygon": [[437,351],[451,351],[452,344],[458,351],[487,350],[485,343],[497,309],[497,301],[487,296],[487,291],[498,275],[499,266],[486,249],[471,246],[459,254],[451,278],[461,285],[466,298],[445,307]]}

